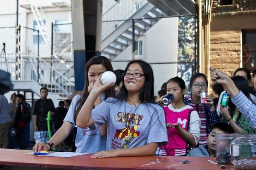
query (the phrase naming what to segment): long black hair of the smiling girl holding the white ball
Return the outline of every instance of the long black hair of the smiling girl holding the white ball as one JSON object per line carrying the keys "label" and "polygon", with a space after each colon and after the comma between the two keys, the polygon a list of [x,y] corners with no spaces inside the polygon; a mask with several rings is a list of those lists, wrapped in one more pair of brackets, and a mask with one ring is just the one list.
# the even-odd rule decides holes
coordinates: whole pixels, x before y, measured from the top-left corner
{"label": "long black hair of the smiling girl holding the white ball", "polygon": [[[140,101],[142,103],[156,103],[154,101],[154,75],[151,66],[143,60],[132,60],[127,64],[125,68],[125,73],[128,70],[129,66],[134,63],[140,64],[140,67],[142,68],[145,77],[143,88],[141,88],[140,91]],[[122,82],[122,87],[116,98],[120,100],[126,100],[128,96],[128,91],[125,88],[124,78],[122,79]]]}

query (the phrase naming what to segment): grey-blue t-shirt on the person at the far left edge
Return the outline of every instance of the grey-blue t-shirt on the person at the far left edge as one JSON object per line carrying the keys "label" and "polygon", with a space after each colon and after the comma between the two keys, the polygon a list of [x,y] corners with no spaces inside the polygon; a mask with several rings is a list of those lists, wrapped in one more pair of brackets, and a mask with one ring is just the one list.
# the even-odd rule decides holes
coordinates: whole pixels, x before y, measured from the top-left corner
{"label": "grey-blue t-shirt on the person at the far left edge", "polygon": [[11,122],[9,116],[8,100],[4,95],[0,95],[0,123]]}

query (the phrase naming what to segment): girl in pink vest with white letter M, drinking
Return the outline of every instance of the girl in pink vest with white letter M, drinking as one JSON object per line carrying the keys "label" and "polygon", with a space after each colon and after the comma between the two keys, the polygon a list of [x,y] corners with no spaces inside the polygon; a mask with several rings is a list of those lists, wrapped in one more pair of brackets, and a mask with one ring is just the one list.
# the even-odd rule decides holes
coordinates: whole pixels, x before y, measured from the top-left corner
{"label": "girl in pink vest with white letter M, drinking", "polygon": [[174,77],[167,82],[167,94],[173,94],[171,104],[164,107],[168,144],[160,147],[158,155],[185,156],[200,139],[200,118],[197,111],[184,103],[185,82]]}

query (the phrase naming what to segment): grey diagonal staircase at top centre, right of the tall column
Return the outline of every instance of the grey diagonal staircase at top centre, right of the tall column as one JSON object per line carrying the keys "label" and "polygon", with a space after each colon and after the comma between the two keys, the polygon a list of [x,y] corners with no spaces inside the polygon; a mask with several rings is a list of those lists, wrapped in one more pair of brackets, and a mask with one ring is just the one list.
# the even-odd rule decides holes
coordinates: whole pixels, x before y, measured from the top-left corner
{"label": "grey diagonal staircase at top centre, right of the tall column", "polygon": [[[115,59],[122,51],[132,44],[133,19],[135,23],[135,40],[137,40],[160,20],[160,18],[157,17],[163,17],[166,15],[151,3],[148,3],[147,0],[140,0],[140,2],[131,8],[127,14],[123,16],[121,15],[120,18],[114,18],[116,22],[110,21],[112,25],[105,28],[105,25],[108,23],[105,22],[107,19],[105,16],[112,11],[119,11],[114,9],[119,7],[118,2],[102,16],[102,54],[108,56],[111,60]],[[108,18],[111,20],[111,17]]]}

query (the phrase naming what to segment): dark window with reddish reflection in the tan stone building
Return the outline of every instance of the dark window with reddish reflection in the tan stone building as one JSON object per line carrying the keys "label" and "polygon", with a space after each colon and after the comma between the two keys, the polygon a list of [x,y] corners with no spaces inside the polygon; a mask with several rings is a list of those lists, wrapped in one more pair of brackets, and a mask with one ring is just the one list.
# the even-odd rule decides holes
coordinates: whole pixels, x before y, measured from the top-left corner
{"label": "dark window with reddish reflection in the tan stone building", "polygon": [[256,30],[243,30],[242,39],[243,67],[253,72],[256,69]]}

